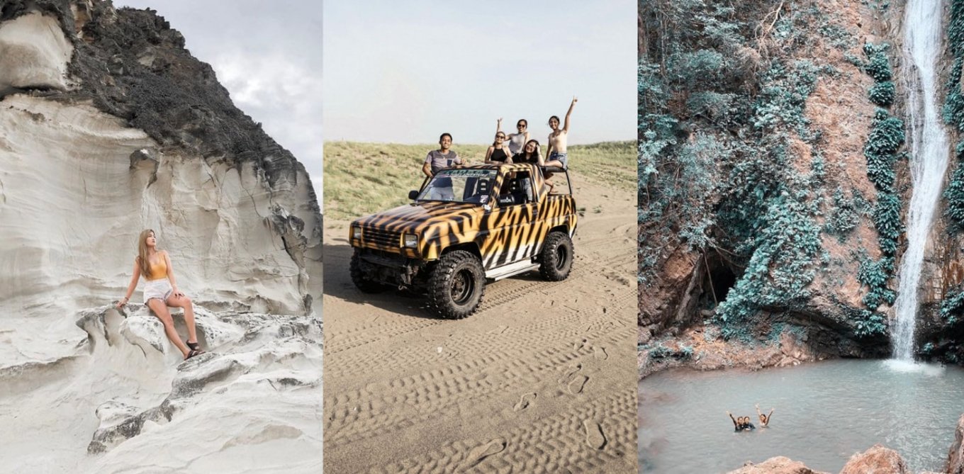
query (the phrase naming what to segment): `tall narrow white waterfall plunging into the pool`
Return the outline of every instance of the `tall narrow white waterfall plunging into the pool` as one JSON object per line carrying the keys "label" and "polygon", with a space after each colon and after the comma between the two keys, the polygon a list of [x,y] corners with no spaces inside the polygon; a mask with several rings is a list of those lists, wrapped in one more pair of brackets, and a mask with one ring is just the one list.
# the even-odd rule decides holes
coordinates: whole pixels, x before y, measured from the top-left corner
{"label": "tall narrow white waterfall plunging into the pool", "polygon": [[894,333],[894,356],[914,358],[914,322],[918,307],[924,247],[948,167],[948,136],[938,114],[937,59],[941,56],[943,0],[909,0],[904,16],[904,65],[910,115],[910,167],[914,181],[907,210],[907,250],[900,264]]}

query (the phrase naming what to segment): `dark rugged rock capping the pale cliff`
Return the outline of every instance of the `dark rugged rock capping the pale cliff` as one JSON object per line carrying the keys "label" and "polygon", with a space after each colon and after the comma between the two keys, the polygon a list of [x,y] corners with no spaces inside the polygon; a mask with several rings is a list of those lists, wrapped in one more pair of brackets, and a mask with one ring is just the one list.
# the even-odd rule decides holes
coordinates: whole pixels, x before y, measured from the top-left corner
{"label": "dark rugged rock capping the pale cliff", "polygon": [[[155,11],[115,9],[110,0],[7,0],[0,4],[0,19],[32,11],[58,18],[75,48],[69,74],[77,88],[53,97],[93,100],[164,146],[252,161],[273,188],[305,172],[260,123],[234,106],[214,69],[192,56],[184,37]],[[313,189],[311,198],[318,209]]]}

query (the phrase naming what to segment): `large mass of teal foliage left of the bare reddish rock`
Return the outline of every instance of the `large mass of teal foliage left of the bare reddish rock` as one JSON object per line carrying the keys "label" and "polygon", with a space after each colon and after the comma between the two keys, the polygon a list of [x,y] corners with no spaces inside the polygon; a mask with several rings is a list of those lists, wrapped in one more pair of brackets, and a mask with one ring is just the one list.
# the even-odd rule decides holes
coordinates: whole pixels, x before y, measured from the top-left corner
{"label": "large mass of teal foliage left of the bare reddish rock", "polygon": [[[818,53],[796,58],[822,51],[813,25],[842,48],[855,39],[808,3],[772,17],[769,47],[761,48],[759,25],[774,7],[758,0],[640,4],[638,280],[655,281],[656,265],[681,245],[728,255],[742,273],[716,311],[727,338],[749,338],[739,322],[764,306],[804,304],[829,261],[817,220],[832,171],[805,107],[818,78],[839,71]],[[802,175],[794,168],[800,140],[812,152]],[[859,207],[844,206],[842,234],[856,225]]]}

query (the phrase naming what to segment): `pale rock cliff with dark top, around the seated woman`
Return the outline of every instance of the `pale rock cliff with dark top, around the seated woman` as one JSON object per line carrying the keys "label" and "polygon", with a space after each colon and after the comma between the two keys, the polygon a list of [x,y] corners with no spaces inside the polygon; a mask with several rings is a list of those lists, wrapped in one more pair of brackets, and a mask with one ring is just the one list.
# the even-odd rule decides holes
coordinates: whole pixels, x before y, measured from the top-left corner
{"label": "pale rock cliff with dark top, around the seated woman", "polygon": [[[321,225],[304,166],[162,17],[0,1],[5,464],[320,469]],[[178,365],[143,305],[113,309],[144,228],[211,354]]]}

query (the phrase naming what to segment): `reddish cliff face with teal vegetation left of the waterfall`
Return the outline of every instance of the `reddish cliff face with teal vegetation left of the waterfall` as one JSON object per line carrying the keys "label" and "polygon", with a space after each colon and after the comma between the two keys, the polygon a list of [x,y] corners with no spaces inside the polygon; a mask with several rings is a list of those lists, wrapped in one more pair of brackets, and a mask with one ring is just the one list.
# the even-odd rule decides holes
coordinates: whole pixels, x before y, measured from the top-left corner
{"label": "reddish cliff face with teal vegetation left of the waterfall", "polygon": [[642,366],[721,342],[890,353],[910,195],[902,8],[641,3]]}

